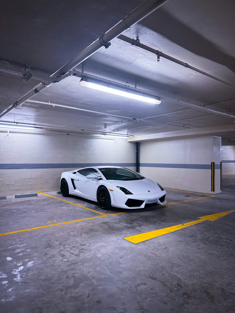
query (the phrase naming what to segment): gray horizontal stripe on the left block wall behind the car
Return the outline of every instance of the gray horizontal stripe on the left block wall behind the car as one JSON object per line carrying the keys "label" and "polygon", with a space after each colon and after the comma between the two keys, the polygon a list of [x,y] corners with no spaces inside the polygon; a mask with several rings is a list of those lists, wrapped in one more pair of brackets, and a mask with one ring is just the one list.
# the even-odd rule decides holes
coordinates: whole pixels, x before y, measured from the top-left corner
{"label": "gray horizontal stripe on the left block wall behind the car", "polygon": [[0,164],[1,170],[18,170],[18,169],[39,169],[39,168],[80,168],[88,166],[121,166],[135,167],[136,163],[10,163]]}

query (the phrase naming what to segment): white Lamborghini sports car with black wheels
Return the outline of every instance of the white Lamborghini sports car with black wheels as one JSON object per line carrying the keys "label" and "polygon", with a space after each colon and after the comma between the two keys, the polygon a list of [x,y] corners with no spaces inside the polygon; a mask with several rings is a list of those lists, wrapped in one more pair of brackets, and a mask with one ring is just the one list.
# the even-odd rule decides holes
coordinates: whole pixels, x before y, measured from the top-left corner
{"label": "white Lamborghini sports car with black wheels", "polygon": [[137,209],[145,204],[165,204],[166,192],[157,182],[124,167],[84,167],[63,172],[62,196],[76,195],[98,202],[102,209]]}

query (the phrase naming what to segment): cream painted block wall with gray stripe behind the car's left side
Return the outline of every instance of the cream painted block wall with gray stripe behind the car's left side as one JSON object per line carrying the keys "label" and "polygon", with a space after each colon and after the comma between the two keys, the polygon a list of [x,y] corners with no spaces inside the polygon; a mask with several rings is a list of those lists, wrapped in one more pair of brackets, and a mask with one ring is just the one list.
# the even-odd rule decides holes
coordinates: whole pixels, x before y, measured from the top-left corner
{"label": "cream painted block wall with gray stripe behind the car's left side", "polygon": [[[69,135],[10,133],[7,136],[6,132],[0,132],[0,143],[0,195],[60,190],[62,172],[90,164],[121,163],[136,169],[135,143],[126,139],[115,143]],[[74,167],[71,163],[84,165]],[[45,168],[30,168],[35,166]],[[6,167],[11,169],[3,169]]]}

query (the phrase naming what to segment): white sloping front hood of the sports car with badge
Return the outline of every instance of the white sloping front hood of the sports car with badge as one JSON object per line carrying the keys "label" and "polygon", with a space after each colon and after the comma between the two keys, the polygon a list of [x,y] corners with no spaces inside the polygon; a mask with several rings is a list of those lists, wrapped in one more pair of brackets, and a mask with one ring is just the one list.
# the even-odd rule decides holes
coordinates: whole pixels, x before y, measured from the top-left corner
{"label": "white sloping front hood of the sports car with badge", "polygon": [[155,192],[160,192],[161,188],[158,186],[157,182],[150,178],[144,178],[141,180],[112,180],[110,181],[112,185],[116,187],[124,187],[133,194],[151,194]]}

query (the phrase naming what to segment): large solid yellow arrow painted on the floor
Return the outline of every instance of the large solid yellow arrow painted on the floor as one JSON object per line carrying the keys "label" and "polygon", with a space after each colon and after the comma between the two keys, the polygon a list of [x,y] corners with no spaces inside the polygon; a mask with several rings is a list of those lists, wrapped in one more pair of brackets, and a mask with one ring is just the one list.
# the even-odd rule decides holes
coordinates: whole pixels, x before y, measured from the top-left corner
{"label": "large solid yellow arrow painted on the floor", "polygon": [[179,224],[179,225],[175,225],[175,226],[171,226],[171,227],[167,227],[167,228],[162,228],[162,229],[158,229],[158,230],[153,230],[151,232],[147,232],[147,233],[140,233],[134,236],[129,236],[129,237],[125,237],[123,239],[126,239],[130,242],[132,242],[133,244],[138,244],[140,242],[149,240],[149,239],[153,239],[156,238],[158,236],[161,235],[165,235],[167,233],[172,233],[176,230],[179,230],[181,228],[185,228],[188,226],[192,226],[195,225],[197,223],[201,223],[203,221],[215,221],[218,218],[221,218],[231,212],[234,212],[235,210],[232,211],[227,211],[227,212],[221,212],[221,213],[217,213],[217,214],[212,214],[212,215],[206,215],[206,216],[201,216],[199,217],[200,219],[193,221],[193,222],[189,222],[189,223],[185,223],[185,224]]}

